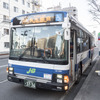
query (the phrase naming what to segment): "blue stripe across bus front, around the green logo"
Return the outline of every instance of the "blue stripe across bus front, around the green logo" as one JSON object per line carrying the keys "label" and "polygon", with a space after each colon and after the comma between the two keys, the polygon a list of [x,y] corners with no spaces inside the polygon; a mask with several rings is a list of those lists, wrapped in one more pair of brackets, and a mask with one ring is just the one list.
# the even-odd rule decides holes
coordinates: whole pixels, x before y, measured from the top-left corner
{"label": "blue stripe across bus front, around the green logo", "polygon": [[[53,70],[53,69],[45,69],[45,68],[36,68],[36,67],[28,67],[28,66],[21,66],[21,65],[12,65],[14,68],[14,73],[31,75],[31,76],[38,76],[43,77],[45,74],[67,74],[69,75],[69,70]],[[27,74],[29,69],[36,69],[35,73]]]}

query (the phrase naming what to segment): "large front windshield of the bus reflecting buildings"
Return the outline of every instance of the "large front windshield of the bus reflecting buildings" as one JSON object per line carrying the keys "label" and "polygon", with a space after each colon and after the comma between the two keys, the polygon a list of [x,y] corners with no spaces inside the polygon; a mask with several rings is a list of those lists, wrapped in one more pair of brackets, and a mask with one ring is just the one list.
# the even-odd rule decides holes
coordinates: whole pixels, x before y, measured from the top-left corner
{"label": "large front windshield of the bus reflecting buildings", "polygon": [[67,58],[61,25],[14,27],[11,32],[10,57],[48,60]]}

